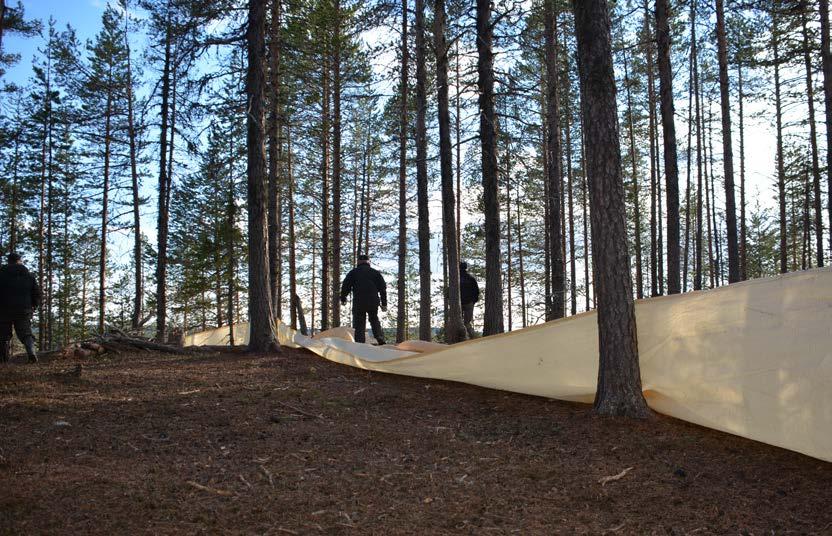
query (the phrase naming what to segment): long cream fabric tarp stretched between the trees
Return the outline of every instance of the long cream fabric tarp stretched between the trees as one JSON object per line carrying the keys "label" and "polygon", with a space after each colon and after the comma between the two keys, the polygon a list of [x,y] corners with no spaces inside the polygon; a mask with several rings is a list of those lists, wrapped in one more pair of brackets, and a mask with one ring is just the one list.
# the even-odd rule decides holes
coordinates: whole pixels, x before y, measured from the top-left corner
{"label": "long cream fabric tarp stretched between the trees", "polygon": [[[639,300],[636,316],[651,408],[832,461],[832,270]],[[354,367],[578,402],[595,395],[593,312],[428,353],[276,330],[283,345]],[[247,338],[237,326],[236,342]],[[186,338],[227,343],[227,327]]]}

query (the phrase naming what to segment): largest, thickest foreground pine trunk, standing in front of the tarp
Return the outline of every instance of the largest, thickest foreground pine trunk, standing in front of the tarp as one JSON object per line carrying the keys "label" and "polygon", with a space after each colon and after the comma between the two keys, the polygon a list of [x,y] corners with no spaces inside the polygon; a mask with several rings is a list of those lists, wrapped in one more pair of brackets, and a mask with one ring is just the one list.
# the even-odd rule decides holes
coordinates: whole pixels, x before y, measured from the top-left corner
{"label": "largest, thickest foreground pine trunk, standing in front of the tarp", "polygon": [[578,67],[587,129],[592,256],[598,283],[600,362],[595,411],[645,417],[606,0],[573,0]]}

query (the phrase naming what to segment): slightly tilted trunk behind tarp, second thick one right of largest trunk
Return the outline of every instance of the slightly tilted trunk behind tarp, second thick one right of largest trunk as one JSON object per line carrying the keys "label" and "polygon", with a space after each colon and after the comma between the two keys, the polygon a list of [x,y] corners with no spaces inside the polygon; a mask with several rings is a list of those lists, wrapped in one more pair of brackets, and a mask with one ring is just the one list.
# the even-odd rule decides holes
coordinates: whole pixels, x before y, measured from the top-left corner
{"label": "slightly tilted trunk behind tarp, second thick one right of largest trunk", "polygon": [[728,282],[740,281],[737,244],[737,206],[734,200],[734,145],[731,141],[731,102],[728,92],[728,43],[725,38],[724,0],[716,0],[716,42],[719,97],[722,106],[722,164],[725,171],[725,222],[728,225]]}

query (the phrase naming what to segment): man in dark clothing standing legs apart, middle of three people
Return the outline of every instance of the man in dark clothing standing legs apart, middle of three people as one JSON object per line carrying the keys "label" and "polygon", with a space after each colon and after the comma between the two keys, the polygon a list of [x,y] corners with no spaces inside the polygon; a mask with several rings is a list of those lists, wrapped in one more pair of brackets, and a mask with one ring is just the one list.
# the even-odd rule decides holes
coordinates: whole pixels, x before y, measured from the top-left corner
{"label": "man in dark clothing standing legs apart, middle of three people", "polygon": [[378,308],[387,311],[387,284],[381,272],[370,267],[370,257],[358,256],[358,266],[350,270],[341,284],[341,304],[347,304],[347,296],[352,292],[352,327],[355,329],[355,342],[366,341],[367,317],[373,336],[379,344],[384,344],[384,332],[378,321]]}

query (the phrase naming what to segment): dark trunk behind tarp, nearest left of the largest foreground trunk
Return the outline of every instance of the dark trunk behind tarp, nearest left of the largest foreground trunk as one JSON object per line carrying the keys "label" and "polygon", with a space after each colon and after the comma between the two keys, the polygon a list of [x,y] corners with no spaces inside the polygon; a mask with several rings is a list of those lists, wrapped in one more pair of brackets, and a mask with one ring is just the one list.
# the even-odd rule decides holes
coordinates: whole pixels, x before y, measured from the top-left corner
{"label": "dark trunk behind tarp, nearest left of the largest foreground trunk", "polygon": [[[557,6],[555,0],[545,0],[545,56],[546,56],[546,152],[549,156],[549,169],[546,182],[549,185],[547,203],[549,206],[549,248],[551,250],[552,302],[547,312],[547,320],[563,318],[565,274],[563,269],[563,250],[561,241],[561,149],[560,149],[560,106],[558,95],[558,36]],[[479,41],[478,41],[479,43]],[[490,38],[489,38],[490,43]],[[485,150],[483,150],[485,153]],[[483,177],[485,174],[483,173]]]}

